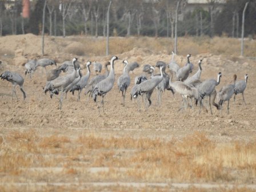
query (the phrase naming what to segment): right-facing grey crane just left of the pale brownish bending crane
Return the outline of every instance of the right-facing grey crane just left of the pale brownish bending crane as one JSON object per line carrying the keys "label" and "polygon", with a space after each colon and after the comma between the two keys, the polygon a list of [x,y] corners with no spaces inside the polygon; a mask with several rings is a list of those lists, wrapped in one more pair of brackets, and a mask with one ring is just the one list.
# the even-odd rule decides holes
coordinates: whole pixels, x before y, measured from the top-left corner
{"label": "right-facing grey crane just left of the pale brownish bending crane", "polygon": [[[146,94],[147,101],[149,101],[149,106],[151,105],[151,95],[157,87],[157,85],[163,80],[163,66],[160,67],[161,75],[155,75],[151,79],[147,79],[138,85],[137,91],[133,94],[134,98],[137,98],[138,95]],[[147,107],[149,107],[147,106]]]}

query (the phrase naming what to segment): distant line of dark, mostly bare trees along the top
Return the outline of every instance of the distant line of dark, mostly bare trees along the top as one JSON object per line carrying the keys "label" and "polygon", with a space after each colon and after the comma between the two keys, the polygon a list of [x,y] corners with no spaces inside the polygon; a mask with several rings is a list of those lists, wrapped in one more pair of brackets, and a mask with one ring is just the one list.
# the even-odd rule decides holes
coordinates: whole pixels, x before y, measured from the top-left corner
{"label": "distant line of dark, mostly bare trees along the top", "polygon": [[[21,16],[22,0],[11,7],[0,1],[0,35],[41,34],[45,0],[31,1],[30,18]],[[222,11],[218,0],[207,0],[209,9],[197,7],[185,11],[186,0],[112,0],[110,9],[111,36],[174,37],[175,9],[179,2],[178,36],[225,35],[240,37],[242,11],[245,13],[245,37],[256,34],[256,1],[227,0]],[[106,36],[106,13],[109,0],[47,0],[45,33],[55,36]]]}

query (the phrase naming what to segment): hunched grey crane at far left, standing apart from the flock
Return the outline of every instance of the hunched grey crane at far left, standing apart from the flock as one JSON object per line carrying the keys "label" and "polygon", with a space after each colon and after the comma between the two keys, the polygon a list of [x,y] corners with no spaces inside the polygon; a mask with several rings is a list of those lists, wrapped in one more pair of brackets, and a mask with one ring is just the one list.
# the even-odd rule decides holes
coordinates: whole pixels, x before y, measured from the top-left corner
{"label": "hunched grey crane at far left, standing apart from the flock", "polygon": [[[23,90],[24,79],[20,74],[10,72],[10,71],[5,71],[4,73],[2,73],[0,75],[0,77],[1,77],[1,79],[7,80],[7,81],[9,81],[13,84],[13,95],[15,94],[17,99],[18,99],[18,96],[17,96],[17,93],[15,91],[15,87],[16,87],[16,85],[19,85],[19,88],[21,89],[21,91],[23,93],[23,99],[25,100],[26,92]],[[12,96],[12,99],[13,99],[13,96]]]}

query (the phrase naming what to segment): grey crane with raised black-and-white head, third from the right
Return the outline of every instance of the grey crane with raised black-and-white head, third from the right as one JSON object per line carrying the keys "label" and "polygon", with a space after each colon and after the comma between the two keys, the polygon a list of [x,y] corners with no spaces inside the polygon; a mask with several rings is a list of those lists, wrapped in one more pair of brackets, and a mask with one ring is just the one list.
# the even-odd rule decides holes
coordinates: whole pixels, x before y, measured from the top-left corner
{"label": "grey crane with raised black-and-white head, third from the right", "polygon": [[[210,105],[210,110],[211,110],[211,94],[215,90],[215,87],[219,85],[219,82],[221,81],[221,72],[218,73],[218,78],[217,81],[215,79],[207,79],[203,81],[199,86],[198,86],[198,94],[199,94],[199,102],[200,102],[200,110],[199,113],[201,112],[201,106],[202,106],[202,99],[205,96],[209,96],[209,105]],[[211,114],[213,114],[213,111],[211,111]]]}

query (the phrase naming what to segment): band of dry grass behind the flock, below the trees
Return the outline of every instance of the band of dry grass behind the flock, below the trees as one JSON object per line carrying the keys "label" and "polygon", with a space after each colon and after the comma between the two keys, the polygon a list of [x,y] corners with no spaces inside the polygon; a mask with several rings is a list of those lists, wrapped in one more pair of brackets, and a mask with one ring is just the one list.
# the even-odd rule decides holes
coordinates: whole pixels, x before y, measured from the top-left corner
{"label": "band of dry grass behind the flock, below the trees", "polygon": [[[79,42],[84,46],[71,46],[67,53],[76,55],[98,56],[106,53],[105,38],[73,37],[70,42]],[[109,50],[110,54],[122,54],[136,48],[152,51],[155,54],[170,54],[174,50],[174,39],[152,38],[152,37],[111,37]],[[232,45],[232,46],[230,46]],[[239,39],[227,37],[180,37],[178,38],[179,55],[192,55],[212,53],[215,55],[240,55],[241,42]],[[254,40],[245,41],[245,56],[256,57],[256,43]]]}

